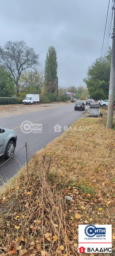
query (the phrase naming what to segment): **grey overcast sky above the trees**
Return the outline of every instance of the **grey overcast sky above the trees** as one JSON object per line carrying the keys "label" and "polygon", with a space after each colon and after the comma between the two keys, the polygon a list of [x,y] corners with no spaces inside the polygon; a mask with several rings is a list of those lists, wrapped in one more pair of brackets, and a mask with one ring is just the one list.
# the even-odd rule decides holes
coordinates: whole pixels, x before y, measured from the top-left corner
{"label": "grey overcast sky above the trees", "polygon": [[43,68],[54,45],[59,86],[85,86],[82,78],[101,54],[107,7],[108,0],[1,0],[0,45],[26,41]]}

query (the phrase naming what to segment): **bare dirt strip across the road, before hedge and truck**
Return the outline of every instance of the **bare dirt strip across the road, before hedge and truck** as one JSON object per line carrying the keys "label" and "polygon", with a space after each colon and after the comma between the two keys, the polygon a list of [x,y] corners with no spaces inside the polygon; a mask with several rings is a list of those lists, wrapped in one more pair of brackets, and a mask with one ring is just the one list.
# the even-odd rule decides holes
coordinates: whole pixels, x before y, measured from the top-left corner
{"label": "bare dirt strip across the road, before hedge and truck", "polygon": [[40,110],[45,110],[50,108],[57,108],[57,107],[62,107],[69,104],[74,104],[74,103],[53,102],[53,103],[47,103],[47,104],[39,103],[38,105],[22,105],[22,104],[2,105],[0,106],[0,117],[14,116],[14,115],[35,112],[35,111],[40,111]]}

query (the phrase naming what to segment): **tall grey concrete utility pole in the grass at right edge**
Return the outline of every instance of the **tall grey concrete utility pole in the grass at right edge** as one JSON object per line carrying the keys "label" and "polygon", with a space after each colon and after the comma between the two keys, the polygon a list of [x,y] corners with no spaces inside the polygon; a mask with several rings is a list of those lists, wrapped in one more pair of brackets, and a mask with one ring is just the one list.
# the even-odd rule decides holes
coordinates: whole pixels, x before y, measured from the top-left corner
{"label": "tall grey concrete utility pole in the grass at right edge", "polygon": [[114,9],[114,26],[113,26],[113,43],[111,55],[111,72],[109,82],[109,101],[107,112],[107,128],[112,129],[113,126],[113,109],[114,109],[114,91],[115,91],[115,9]]}

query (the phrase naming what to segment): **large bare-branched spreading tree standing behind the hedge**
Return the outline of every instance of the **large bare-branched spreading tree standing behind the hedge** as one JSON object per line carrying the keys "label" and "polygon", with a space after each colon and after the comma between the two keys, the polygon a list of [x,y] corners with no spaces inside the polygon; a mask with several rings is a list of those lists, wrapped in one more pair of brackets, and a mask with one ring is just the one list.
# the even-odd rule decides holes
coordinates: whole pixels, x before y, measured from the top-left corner
{"label": "large bare-branched spreading tree standing behind the hedge", "polygon": [[14,77],[17,96],[20,93],[19,79],[23,70],[39,64],[39,54],[29,48],[24,41],[8,41],[0,48],[0,63],[10,70]]}

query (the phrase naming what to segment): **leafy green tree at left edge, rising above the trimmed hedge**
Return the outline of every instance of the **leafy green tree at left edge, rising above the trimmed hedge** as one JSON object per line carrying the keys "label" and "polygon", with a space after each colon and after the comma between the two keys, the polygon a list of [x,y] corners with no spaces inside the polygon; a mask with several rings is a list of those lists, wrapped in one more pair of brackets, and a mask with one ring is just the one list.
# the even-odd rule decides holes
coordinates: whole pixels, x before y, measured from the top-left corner
{"label": "leafy green tree at left edge, rising above the trimmed hedge", "polygon": [[11,73],[0,66],[0,97],[12,97],[16,95],[15,81]]}

